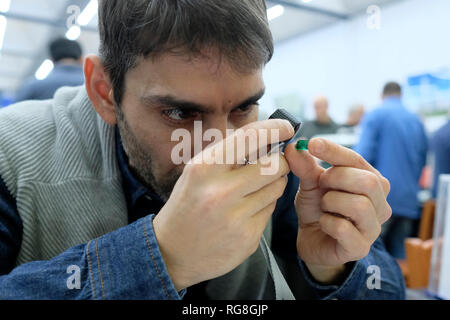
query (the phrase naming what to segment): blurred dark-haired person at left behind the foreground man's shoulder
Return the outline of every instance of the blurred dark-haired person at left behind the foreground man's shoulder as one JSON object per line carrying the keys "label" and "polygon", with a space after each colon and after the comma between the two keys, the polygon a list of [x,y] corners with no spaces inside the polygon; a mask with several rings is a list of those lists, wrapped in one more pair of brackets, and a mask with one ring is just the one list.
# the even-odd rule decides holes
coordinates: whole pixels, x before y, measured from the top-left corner
{"label": "blurred dark-haired person at left behind the foreground man's shoulder", "polygon": [[83,52],[78,42],[58,38],[50,43],[50,56],[55,64],[44,80],[34,77],[25,82],[16,94],[16,102],[53,98],[61,87],[77,87],[84,83]]}

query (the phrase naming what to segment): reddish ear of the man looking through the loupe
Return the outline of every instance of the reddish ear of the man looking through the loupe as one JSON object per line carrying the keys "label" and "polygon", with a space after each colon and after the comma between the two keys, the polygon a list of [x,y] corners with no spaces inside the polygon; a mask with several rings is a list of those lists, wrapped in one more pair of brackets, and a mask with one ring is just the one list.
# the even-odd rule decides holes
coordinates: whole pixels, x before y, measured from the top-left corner
{"label": "reddish ear of the man looking through the loupe", "polygon": [[84,62],[85,86],[89,99],[100,117],[109,125],[117,123],[113,89],[99,57],[86,56]]}

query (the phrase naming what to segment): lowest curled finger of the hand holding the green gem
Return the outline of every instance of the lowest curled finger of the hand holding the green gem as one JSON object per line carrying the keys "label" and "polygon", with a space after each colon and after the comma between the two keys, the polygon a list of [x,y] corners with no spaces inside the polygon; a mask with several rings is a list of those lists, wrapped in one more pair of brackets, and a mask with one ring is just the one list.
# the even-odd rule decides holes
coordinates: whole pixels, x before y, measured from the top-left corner
{"label": "lowest curled finger of the hand holding the green gem", "polygon": [[350,221],[331,214],[324,214],[319,220],[321,229],[336,239],[336,257],[341,260],[360,260],[367,256],[371,243],[364,238]]}

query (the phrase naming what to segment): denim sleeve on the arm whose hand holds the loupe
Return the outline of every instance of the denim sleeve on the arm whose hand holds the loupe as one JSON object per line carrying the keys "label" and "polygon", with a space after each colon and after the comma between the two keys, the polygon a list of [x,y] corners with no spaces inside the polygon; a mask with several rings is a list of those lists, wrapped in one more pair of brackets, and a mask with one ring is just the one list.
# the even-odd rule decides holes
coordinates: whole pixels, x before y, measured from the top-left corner
{"label": "denim sleeve on the arm whose hand holds the loupe", "polygon": [[[0,276],[3,299],[181,299],[153,231],[154,215]],[[0,257],[1,258],[1,257]]]}

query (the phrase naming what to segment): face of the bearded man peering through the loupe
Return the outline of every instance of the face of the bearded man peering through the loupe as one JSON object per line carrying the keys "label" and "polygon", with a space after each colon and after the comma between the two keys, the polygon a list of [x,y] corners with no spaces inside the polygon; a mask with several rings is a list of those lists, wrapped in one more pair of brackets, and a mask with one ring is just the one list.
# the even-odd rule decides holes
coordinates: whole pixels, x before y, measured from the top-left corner
{"label": "face of the bearded man peering through the loupe", "polygon": [[[264,92],[262,70],[234,71],[225,59],[166,54],[127,73],[117,120],[129,164],[138,178],[167,200],[184,165],[174,165],[172,132],[237,129],[257,121]],[[210,142],[203,143],[203,148]],[[192,146],[192,156],[193,146]]]}

